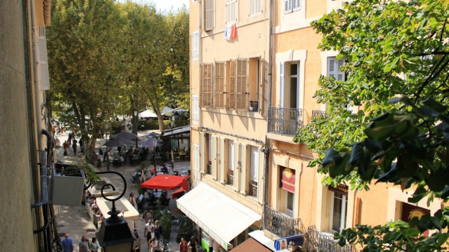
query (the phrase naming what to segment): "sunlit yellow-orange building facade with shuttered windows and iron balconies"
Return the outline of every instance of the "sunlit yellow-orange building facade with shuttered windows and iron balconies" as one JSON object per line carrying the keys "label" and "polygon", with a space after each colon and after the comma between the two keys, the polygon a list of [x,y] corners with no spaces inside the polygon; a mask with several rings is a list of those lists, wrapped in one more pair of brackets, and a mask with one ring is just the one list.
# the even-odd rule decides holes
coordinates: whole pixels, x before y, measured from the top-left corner
{"label": "sunlit yellow-orange building facade with shuttered windows and iron balconies", "polygon": [[[336,247],[333,233],[356,224],[407,222],[416,213],[435,213],[443,206],[438,199],[427,206],[427,198],[409,204],[414,190],[403,192],[393,185],[371,184],[367,192],[351,190],[349,183],[323,186],[323,175],[307,167],[315,154],[306,143],[293,142],[298,128],[326,115],[326,106],[313,98],[320,75],[345,79],[340,71],[344,59],[337,60],[336,51],[317,49],[321,35],[310,25],[343,4],[190,4],[193,185],[211,187],[261,216],[236,239],[219,243],[222,250],[251,239],[274,251],[274,240],[302,234],[308,236],[304,251],[351,251]],[[354,113],[359,109],[347,106]],[[195,221],[194,214],[189,216]],[[210,230],[198,218],[196,223],[203,233]],[[211,234],[203,237],[220,240]]]}

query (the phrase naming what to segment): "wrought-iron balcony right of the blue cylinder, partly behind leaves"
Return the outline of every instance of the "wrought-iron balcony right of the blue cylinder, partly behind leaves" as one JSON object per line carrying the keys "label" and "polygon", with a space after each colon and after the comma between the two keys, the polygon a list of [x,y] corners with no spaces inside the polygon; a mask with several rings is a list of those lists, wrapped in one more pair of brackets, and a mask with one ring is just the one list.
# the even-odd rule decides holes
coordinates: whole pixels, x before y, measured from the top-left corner
{"label": "wrought-iron balcony right of the blue cylinder, partly behind leaves", "polygon": [[351,245],[340,247],[331,234],[319,232],[315,226],[309,227],[307,232],[307,251],[310,252],[353,252]]}

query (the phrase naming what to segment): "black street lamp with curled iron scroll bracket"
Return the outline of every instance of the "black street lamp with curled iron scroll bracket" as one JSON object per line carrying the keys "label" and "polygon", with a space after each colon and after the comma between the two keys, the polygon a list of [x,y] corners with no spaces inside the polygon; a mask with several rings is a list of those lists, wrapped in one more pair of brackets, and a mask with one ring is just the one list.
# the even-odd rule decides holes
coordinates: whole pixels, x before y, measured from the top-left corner
{"label": "black street lamp with curled iron scroll bracket", "polygon": [[[122,174],[116,171],[98,171],[94,172],[95,174],[104,174],[104,173],[114,173],[119,175],[124,183],[124,190],[122,194],[120,194],[117,198],[110,199],[106,197],[103,193],[103,190],[107,186],[111,186],[113,190],[115,190],[114,185],[105,184],[101,188],[101,196],[108,201],[112,201],[111,211],[108,212],[110,215],[109,218],[103,220],[103,225],[101,225],[100,230],[95,233],[97,237],[99,245],[103,248],[104,252],[131,252],[133,249],[134,241],[137,239],[134,237],[133,232],[129,229],[128,223],[123,216],[118,216],[121,211],[117,211],[115,208],[115,201],[123,197],[126,192],[126,180],[122,176]],[[89,188],[90,184],[87,185]]]}

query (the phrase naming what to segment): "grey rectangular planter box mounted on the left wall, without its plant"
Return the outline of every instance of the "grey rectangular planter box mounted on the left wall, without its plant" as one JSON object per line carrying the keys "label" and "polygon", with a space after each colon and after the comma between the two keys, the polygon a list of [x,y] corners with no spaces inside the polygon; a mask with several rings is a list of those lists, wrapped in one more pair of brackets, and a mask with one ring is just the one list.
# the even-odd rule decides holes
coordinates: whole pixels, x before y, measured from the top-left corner
{"label": "grey rectangular planter box mounted on the left wall, without its plant", "polygon": [[[68,167],[69,164],[55,164]],[[80,170],[79,177],[62,176],[53,168],[51,176],[50,202],[53,205],[79,206],[83,198],[84,172]]]}

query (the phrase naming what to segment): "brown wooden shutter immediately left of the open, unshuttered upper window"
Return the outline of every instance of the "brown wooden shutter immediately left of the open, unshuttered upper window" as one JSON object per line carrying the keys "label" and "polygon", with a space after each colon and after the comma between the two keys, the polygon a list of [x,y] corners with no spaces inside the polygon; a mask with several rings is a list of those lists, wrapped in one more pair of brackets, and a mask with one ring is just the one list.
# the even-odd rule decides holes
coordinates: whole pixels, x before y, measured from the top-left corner
{"label": "brown wooden shutter immediately left of the open, unshuttered upper window", "polygon": [[236,80],[235,80],[235,109],[247,110],[247,64],[246,59],[237,59]]}

